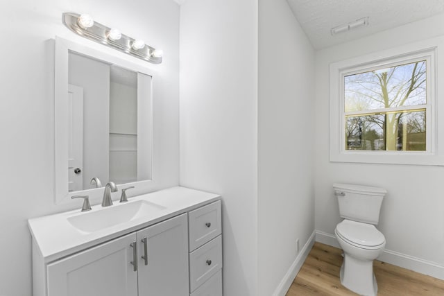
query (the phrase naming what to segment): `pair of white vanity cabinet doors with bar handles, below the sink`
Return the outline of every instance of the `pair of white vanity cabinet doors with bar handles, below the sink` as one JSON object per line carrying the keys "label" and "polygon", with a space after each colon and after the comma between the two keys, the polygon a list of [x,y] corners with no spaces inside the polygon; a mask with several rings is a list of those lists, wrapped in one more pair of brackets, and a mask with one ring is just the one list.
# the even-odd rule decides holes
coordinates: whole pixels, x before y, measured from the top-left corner
{"label": "pair of white vanity cabinet doors with bar handles, below the sink", "polygon": [[187,244],[182,214],[49,264],[48,296],[188,295]]}

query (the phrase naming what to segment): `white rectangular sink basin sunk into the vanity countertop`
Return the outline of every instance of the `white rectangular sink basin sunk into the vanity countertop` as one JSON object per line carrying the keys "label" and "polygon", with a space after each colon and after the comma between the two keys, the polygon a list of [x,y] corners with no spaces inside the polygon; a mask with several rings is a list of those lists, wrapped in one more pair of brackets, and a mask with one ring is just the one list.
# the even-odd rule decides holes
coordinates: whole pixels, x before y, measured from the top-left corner
{"label": "white rectangular sink basin sunk into the vanity countertop", "polygon": [[126,223],[144,216],[160,213],[166,207],[146,200],[117,204],[105,209],[96,209],[67,218],[68,222],[82,232],[96,232],[101,229]]}

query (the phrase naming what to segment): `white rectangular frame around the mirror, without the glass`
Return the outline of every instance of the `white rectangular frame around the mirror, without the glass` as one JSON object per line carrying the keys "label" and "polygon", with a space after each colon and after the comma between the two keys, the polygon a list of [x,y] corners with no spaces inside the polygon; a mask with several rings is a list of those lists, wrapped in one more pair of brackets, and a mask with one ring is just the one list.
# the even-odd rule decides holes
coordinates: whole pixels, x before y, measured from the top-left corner
{"label": "white rectangular frame around the mirror, without the glass", "polygon": [[[151,76],[151,101],[148,103],[151,109],[151,118],[147,122],[147,129],[153,139],[153,81],[154,71],[139,64],[123,60],[115,55],[110,55],[96,49],[89,48],[83,44],[66,40],[56,36],[55,49],[55,69],[54,69],[54,193],[55,202],[60,204],[71,200],[73,195],[89,195],[89,201],[92,204],[101,202],[104,188],[87,189],[83,191],[68,191],[68,55],[69,51],[74,51],[82,55],[89,56],[96,60],[102,60],[119,67],[130,69],[139,73]],[[119,53],[120,54],[120,53]],[[155,167],[153,162],[153,141],[151,141],[151,180],[130,182],[120,184],[121,187],[135,186],[131,191],[133,193],[144,193],[149,188],[155,186],[154,175]],[[103,184],[105,186],[105,184]],[[117,193],[114,193],[117,194]],[[114,199],[114,198],[113,198]]]}

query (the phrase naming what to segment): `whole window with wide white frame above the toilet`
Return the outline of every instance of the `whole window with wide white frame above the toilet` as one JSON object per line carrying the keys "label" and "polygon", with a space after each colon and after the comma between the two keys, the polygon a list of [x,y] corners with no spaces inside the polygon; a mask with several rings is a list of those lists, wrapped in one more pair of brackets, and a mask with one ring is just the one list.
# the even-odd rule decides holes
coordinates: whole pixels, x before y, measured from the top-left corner
{"label": "whole window with wide white frame above the toilet", "polygon": [[330,161],[444,165],[429,42],[330,65]]}

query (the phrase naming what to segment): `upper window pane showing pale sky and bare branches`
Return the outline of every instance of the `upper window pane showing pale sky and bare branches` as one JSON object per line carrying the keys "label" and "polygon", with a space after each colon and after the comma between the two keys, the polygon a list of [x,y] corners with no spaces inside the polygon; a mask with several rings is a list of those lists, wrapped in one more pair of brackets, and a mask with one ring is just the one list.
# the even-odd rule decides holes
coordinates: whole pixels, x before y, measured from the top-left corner
{"label": "upper window pane showing pale sky and bare branches", "polygon": [[345,112],[426,104],[426,61],[344,77]]}

